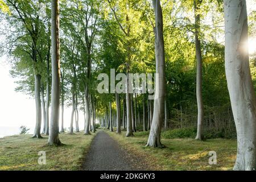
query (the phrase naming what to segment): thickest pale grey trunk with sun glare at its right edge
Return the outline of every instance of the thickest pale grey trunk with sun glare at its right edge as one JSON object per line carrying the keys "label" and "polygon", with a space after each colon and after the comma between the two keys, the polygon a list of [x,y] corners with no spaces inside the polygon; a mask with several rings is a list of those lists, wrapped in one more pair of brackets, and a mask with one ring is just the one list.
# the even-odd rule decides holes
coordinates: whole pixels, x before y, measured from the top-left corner
{"label": "thickest pale grey trunk with sun glare at its right edge", "polygon": [[256,169],[256,100],[247,49],[245,0],[224,0],[225,71],[237,129],[234,170]]}

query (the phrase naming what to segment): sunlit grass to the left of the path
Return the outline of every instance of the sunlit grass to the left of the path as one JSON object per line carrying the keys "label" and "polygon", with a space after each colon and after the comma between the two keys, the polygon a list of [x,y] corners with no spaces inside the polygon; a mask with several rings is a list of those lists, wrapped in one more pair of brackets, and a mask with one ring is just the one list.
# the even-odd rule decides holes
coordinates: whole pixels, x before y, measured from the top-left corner
{"label": "sunlit grass to the left of the path", "polygon": [[[0,138],[0,170],[80,170],[95,134],[60,134],[65,145],[47,146],[48,137],[31,135]],[[46,151],[46,165],[39,165],[39,151]]]}

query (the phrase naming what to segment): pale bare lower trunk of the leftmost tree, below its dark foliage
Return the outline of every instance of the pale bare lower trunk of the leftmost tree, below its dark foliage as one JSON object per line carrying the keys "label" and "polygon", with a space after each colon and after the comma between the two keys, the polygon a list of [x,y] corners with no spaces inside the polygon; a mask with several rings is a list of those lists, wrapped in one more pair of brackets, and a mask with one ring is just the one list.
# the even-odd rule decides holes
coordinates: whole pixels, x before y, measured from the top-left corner
{"label": "pale bare lower trunk of the leftmost tree, below its dark foliage", "polygon": [[42,122],[42,107],[40,99],[41,75],[35,75],[35,102],[36,102],[36,125],[32,138],[42,138],[41,122]]}

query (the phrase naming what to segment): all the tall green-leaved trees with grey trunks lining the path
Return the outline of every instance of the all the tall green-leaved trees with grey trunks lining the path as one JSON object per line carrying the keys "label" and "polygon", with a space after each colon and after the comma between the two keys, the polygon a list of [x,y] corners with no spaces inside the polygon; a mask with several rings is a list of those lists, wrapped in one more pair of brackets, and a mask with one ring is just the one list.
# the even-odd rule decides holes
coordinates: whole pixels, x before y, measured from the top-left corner
{"label": "all the tall green-leaved trees with grey trunks lining the path", "polygon": [[[218,0],[161,2],[61,1],[59,21],[57,1],[0,1],[5,24],[1,33],[6,35],[1,51],[10,55],[11,75],[20,78],[16,90],[35,98],[34,137],[41,138],[43,113],[49,144],[61,144],[61,104],[61,132],[66,105],[72,106],[71,134],[74,117],[79,132],[82,111],[85,134],[96,131],[98,118],[110,131],[117,127],[120,133],[123,127],[127,137],[150,130],[147,146],[162,147],[163,127],[174,127],[174,122],[182,127],[184,121],[188,126],[184,116],[197,113],[197,121],[192,119],[189,125],[197,125],[196,139],[201,139],[206,119],[209,125],[216,123],[216,108],[229,110],[231,100],[238,134],[235,169],[255,168],[255,98],[249,55],[243,48],[248,31],[246,1],[225,1],[225,6]],[[224,10],[225,47],[220,41]],[[249,18],[253,22],[255,12]],[[253,29],[250,24],[249,30]],[[126,75],[158,73],[158,97],[150,101],[150,94],[99,94],[97,76],[111,77],[110,69]],[[127,77],[127,91],[129,84]],[[215,119],[206,117],[208,110]],[[179,118],[174,118],[175,113]]]}

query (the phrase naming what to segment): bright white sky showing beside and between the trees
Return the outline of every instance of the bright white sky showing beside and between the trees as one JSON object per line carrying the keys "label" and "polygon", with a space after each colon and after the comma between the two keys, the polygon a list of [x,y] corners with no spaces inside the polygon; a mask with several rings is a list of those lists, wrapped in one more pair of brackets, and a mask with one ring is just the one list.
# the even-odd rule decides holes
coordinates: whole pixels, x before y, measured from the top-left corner
{"label": "bright white sky showing beside and between the trees", "polygon": [[[247,11],[256,10],[256,1],[247,0]],[[256,38],[249,38],[249,51],[256,51]],[[6,57],[0,57],[0,129],[4,127],[19,127],[25,125],[34,131],[35,101],[28,96],[14,91],[16,84],[10,77],[9,65],[5,64]],[[69,127],[71,109],[65,109],[64,127]],[[84,127],[83,113],[80,112],[80,129]],[[1,135],[1,130],[0,130]]]}

